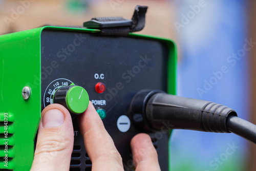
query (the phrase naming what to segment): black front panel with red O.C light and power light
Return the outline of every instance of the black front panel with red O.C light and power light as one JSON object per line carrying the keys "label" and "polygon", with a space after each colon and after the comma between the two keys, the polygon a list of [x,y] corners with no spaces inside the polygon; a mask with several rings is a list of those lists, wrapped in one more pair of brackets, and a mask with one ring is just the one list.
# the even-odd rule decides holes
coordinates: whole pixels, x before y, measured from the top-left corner
{"label": "black front panel with red O.C light and power light", "polygon": [[[167,91],[168,46],[138,37],[44,30],[41,34],[42,110],[53,102],[60,86],[87,90],[102,114],[106,131],[122,156],[124,170],[134,170],[130,141],[138,133],[130,104],[143,89]],[[76,115],[70,170],[91,170]],[[138,119],[138,118],[137,118]],[[168,133],[147,132],[157,149],[162,170],[168,170]]]}

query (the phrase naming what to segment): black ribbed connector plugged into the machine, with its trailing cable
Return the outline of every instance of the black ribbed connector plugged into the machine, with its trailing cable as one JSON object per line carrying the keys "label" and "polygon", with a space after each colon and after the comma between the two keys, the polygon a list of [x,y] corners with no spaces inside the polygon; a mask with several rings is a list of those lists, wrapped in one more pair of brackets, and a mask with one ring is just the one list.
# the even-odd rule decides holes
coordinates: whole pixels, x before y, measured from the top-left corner
{"label": "black ribbed connector plugged into the machine, with its trailing cable", "polygon": [[[232,132],[256,143],[256,125],[238,118],[236,111],[227,106],[210,101],[179,97],[157,90],[143,90],[135,95],[131,113],[135,124],[147,131],[165,128]],[[144,124],[138,119],[140,114]]]}

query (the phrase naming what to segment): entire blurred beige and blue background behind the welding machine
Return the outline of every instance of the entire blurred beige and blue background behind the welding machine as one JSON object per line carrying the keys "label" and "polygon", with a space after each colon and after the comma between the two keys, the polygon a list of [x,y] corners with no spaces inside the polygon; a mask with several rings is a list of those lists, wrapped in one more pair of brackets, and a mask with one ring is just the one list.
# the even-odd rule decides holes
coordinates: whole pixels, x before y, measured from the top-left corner
{"label": "entire blurred beige and blue background behind the welding machine", "polygon": [[[0,34],[82,25],[99,16],[131,18],[136,5],[149,7],[140,34],[177,43],[178,95],[227,105],[256,123],[253,0],[0,0]],[[175,130],[169,143],[172,170],[256,168],[256,145],[233,134]]]}

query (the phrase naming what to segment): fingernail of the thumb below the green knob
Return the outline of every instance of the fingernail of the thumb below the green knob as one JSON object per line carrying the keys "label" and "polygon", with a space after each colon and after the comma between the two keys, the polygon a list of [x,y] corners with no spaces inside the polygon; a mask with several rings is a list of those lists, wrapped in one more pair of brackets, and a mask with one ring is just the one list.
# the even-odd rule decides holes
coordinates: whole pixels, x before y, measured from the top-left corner
{"label": "fingernail of the thumb below the green knob", "polygon": [[61,125],[63,122],[64,114],[57,109],[47,111],[42,117],[42,127],[44,128],[56,127]]}

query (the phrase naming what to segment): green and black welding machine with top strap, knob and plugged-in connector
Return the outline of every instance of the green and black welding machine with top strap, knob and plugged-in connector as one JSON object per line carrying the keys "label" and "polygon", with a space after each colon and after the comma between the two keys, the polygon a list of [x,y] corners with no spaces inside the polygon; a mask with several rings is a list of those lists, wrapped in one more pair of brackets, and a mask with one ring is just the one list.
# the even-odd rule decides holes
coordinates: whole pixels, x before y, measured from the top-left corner
{"label": "green and black welding machine with top strap, knob and plugged-in connector", "polygon": [[174,41],[131,33],[144,27],[145,12],[137,6],[131,20],[93,18],[80,28],[45,26],[0,36],[0,170],[30,169],[40,114],[52,103],[66,106],[72,115],[70,170],[92,169],[76,120],[89,99],[124,170],[134,170],[130,141],[138,133],[151,136],[161,170],[169,169],[172,129],[237,133],[231,124],[235,111],[174,96]]}

